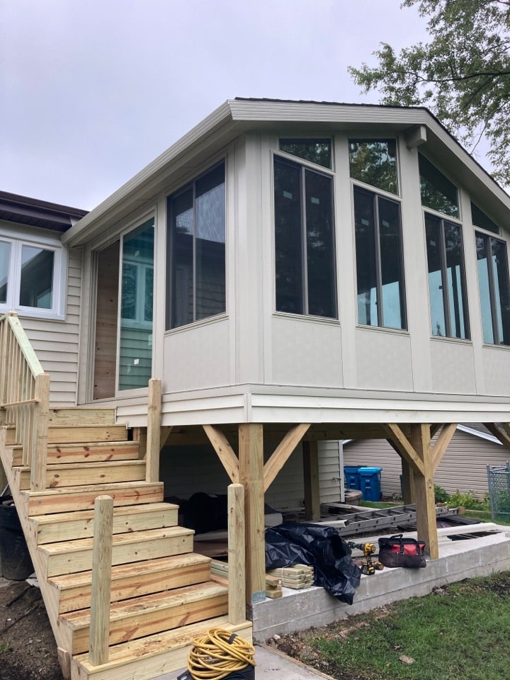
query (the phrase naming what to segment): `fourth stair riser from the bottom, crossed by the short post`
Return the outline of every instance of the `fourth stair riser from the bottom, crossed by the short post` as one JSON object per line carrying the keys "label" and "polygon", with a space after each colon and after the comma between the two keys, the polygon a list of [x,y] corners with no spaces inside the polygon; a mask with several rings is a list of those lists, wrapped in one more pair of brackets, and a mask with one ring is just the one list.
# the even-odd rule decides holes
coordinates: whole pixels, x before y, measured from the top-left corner
{"label": "fourth stair riser from the bottom, crossed by the short post", "polygon": [[[132,543],[125,545],[113,545],[112,564],[125,565],[129,562],[191,553],[192,550],[193,535],[166,536],[140,542],[133,540]],[[48,577],[86,572],[92,568],[92,547],[63,555],[45,555],[45,557],[47,557],[46,575]]]}

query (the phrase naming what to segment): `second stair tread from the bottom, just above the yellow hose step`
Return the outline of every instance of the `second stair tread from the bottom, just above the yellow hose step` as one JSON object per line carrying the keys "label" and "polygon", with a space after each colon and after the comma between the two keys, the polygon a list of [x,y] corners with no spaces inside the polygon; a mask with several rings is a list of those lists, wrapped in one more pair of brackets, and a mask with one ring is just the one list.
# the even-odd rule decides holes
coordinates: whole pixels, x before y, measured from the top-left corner
{"label": "second stair tread from the bottom, just above the yellow hose step", "polygon": [[[132,597],[120,602],[113,602],[110,606],[110,621],[123,621],[129,616],[149,615],[153,611],[163,608],[176,607],[196,602],[202,599],[226,595],[228,587],[216,582],[206,582],[176,588],[172,591],[151,593],[141,597]],[[60,615],[60,619],[72,630],[86,628],[90,625],[90,609],[80,609]]]}

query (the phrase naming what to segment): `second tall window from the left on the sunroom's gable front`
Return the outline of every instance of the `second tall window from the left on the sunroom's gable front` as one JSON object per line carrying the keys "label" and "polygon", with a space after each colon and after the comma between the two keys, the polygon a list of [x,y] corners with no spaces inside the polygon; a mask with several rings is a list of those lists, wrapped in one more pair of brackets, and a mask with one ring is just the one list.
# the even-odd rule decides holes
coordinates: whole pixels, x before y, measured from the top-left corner
{"label": "second tall window from the left on the sunroom's gable front", "polygon": [[358,323],[407,327],[400,204],[354,187]]}

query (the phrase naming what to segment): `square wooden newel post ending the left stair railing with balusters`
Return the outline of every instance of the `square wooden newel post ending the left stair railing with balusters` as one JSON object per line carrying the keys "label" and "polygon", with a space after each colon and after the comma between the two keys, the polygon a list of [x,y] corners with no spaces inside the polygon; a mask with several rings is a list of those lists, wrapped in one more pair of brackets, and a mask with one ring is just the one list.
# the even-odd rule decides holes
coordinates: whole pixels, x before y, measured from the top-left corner
{"label": "square wooden newel post ending the left stair railing with balusters", "polygon": [[[31,453],[30,489],[46,488],[47,436],[50,411],[50,376],[41,373],[35,378],[35,407],[33,409],[33,435],[29,437]],[[26,443],[23,442],[23,446]]]}

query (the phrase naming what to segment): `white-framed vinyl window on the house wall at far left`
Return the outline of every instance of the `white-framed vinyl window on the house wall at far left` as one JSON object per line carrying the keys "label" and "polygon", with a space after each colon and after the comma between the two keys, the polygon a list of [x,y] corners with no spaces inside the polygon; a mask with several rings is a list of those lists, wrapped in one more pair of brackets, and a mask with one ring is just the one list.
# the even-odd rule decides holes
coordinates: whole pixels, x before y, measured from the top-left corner
{"label": "white-framed vinyl window on the house wall at far left", "polygon": [[65,263],[60,243],[0,231],[0,313],[63,319]]}

